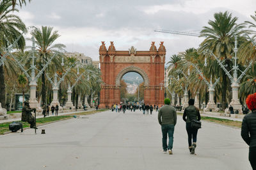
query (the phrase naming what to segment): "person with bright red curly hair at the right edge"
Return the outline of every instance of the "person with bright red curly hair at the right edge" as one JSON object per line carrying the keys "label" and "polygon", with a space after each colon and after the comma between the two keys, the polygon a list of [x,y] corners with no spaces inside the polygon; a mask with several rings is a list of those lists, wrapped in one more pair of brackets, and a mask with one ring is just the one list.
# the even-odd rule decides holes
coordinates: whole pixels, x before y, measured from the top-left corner
{"label": "person with bright red curly hair at the right edge", "polygon": [[249,147],[249,161],[253,170],[256,170],[256,93],[248,95],[246,105],[252,112],[243,118],[241,136]]}

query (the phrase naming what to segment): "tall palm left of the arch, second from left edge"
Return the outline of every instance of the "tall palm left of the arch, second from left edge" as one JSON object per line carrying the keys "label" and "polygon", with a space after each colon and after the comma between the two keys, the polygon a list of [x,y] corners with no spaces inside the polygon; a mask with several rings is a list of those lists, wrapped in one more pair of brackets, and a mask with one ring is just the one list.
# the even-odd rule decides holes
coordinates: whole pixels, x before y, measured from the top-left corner
{"label": "tall palm left of the arch, second from left edge", "polygon": [[[60,66],[61,52],[65,48],[65,45],[61,43],[54,44],[54,41],[60,37],[58,31],[52,31],[53,27],[42,26],[42,29],[36,28],[31,32],[31,35],[35,37],[35,43],[38,47],[38,63],[42,67],[45,64],[47,58],[52,56],[54,52],[58,52],[60,55],[55,60],[52,60],[54,65]],[[51,68],[49,66],[48,68]],[[45,85],[45,71],[42,73],[42,102],[46,103],[46,85]]]}

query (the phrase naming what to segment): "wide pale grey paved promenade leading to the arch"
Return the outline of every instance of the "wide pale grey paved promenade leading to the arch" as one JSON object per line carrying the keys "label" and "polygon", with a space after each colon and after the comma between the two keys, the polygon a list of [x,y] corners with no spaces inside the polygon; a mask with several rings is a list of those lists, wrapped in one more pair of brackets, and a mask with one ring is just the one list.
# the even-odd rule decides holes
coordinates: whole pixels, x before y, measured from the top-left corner
{"label": "wide pale grey paved promenade leading to the arch", "polygon": [[178,116],[173,155],[162,153],[157,113],[100,112],[0,136],[0,169],[251,169],[240,130],[203,122],[196,155]]}

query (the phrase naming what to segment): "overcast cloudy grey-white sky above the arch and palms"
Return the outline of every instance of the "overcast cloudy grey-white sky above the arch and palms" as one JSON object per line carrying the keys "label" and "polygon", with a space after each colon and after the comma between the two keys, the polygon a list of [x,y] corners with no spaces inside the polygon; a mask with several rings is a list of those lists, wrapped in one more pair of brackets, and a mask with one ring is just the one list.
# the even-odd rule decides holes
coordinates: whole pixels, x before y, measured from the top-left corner
{"label": "overcast cloudy grey-white sky above the arch and palms", "polygon": [[155,29],[200,31],[213,14],[228,10],[239,22],[252,20],[255,0],[32,0],[18,14],[27,26],[51,26],[68,52],[83,52],[99,60],[101,41],[115,43],[116,50],[149,50],[166,47],[170,56],[198,47],[204,38],[156,33]]}

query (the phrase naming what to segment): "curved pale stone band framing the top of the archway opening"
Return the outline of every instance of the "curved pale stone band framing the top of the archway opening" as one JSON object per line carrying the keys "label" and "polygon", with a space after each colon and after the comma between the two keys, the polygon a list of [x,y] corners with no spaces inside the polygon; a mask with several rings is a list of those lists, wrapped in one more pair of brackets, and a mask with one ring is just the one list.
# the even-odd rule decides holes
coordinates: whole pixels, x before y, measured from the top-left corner
{"label": "curved pale stone band framing the top of the archway opening", "polygon": [[123,75],[125,75],[125,73],[127,73],[127,72],[140,73],[140,75],[143,77],[143,80],[144,80],[144,86],[149,86],[149,79],[148,79],[147,73],[137,66],[127,66],[123,70],[121,70],[121,72],[119,72],[116,77],[116,86],[120,86],[120,81],[121,81]]}

